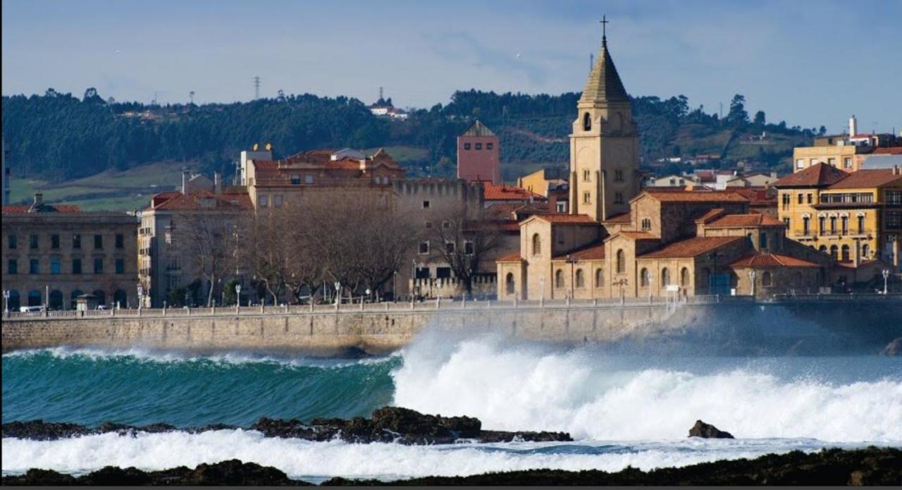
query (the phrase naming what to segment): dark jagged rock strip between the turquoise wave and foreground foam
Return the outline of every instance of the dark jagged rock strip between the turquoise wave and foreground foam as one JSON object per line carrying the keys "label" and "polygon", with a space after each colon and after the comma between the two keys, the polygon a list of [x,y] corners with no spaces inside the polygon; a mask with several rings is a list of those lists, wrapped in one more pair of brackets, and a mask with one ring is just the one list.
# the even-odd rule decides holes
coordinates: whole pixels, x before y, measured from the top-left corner
{"label": "dark jagged rock strip between the turquoise wave and foreground foam", "polygon": [[426,415],[400,407],[382,407],[370,419],[280,420],[262,417],[250,427],[214,424],[179,429],[165,423],[144,426],[104,422],[87,427],[67,422],[14,421],[3,424],[3,437],[53,440],[115,432],[135,435],[139,432],[160,433],[182,430],[191,433],[207,430],[259,430],[265,437],[296,438],[314,441],[341,439],[352,443],[393,442],[397,444],[452,444],[460,439],[473,442],[565,442],[573,440],[566,432],[483,430],[483,423],[473,417]]}

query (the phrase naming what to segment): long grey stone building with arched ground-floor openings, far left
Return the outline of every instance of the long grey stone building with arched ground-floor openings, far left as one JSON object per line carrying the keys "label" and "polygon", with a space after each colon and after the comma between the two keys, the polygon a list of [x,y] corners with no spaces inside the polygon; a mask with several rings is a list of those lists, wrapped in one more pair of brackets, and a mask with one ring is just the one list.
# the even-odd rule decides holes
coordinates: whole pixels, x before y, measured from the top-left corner
{"label": "long grey stone building with arched ground-floor openings, far left", "polygon": [[137,306],[136,219],[46,204],[3,207],[3,289],[8,307],[71,310],[79,296]]}

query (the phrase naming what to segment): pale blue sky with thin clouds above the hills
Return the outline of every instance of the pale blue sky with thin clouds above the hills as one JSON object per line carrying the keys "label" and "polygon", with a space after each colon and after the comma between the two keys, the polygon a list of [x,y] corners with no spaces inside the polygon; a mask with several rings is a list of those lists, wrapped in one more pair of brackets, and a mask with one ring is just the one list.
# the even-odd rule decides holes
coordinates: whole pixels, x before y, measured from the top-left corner
{"label": "pale blue sky with thin clouds above the hills", "polygon": [[395,106],[579,91],[608,47],[632,96],[733,94],[769,122],[902,129],[902,0],[4,0],[2,92],[161,104],[312,93]]}

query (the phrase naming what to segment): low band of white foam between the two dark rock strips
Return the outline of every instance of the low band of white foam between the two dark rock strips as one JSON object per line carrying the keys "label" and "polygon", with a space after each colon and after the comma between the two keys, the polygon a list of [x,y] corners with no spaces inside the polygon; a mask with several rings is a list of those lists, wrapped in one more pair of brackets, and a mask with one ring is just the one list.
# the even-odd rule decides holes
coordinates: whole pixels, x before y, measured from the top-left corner
{"label": "low band of white foam between the two dark rock strips", "polygon": [[3,439],[2,467],[5,474],[22,473],[32,467],[85,473],[106,465],[153,470],[238,458],[278,467],[294,477],[465,476],[529,468],[651,469],[823,446],[810,439],[686,438],[623,445],[595,442],[403,446],[264,438],[256,431],[216,430],[136,437],[107,433],[53,441],[7,438]]}

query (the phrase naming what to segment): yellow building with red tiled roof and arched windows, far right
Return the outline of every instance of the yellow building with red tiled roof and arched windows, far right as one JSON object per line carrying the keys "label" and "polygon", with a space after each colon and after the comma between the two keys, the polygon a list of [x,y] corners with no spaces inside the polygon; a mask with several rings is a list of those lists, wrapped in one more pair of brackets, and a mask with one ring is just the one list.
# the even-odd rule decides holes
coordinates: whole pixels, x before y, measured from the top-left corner
{"label": "yellow building with red tiled roof and arched windows, far right", "polygon": [[817,163],[774,183],[787,236],[838,261],[899,264],[902,172],[847,173]]}

